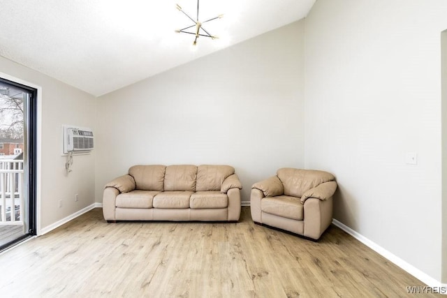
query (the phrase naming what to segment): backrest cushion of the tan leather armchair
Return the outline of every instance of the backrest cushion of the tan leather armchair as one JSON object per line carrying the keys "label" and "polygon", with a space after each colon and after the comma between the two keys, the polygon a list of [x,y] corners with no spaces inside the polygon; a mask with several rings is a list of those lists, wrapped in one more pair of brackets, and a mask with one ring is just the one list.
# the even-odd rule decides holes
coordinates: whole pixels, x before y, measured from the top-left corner
{"label": "backrest cushion of the tan leather armchair", "polygon": [[324,171],[299,170],[283,167],[277,170],[277,176],[284,186],[284,195],[301,198],[302,194],[324,182],[333,181],[335,177]]}

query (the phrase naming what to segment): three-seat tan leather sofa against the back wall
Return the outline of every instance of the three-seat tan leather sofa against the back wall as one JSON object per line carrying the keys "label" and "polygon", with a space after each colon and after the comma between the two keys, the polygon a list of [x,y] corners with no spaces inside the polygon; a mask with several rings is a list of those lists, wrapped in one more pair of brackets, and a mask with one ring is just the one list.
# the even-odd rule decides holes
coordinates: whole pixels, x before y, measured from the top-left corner
{"label": "three-seat tan leather sofa against the back wall", "polygon": [[105,185],[106,221],[238,221],[240,184],[229,165],[135,165]]}

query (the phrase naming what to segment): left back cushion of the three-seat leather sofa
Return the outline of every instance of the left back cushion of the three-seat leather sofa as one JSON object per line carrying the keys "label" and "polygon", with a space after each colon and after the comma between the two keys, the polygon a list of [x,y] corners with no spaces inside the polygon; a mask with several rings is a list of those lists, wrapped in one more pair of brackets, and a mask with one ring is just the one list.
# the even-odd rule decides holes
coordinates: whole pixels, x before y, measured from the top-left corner
{"label": "left back cushion of the three-seat leather sofa", "polygon": [[163,191],[165,165],[134,165],[129,175],[135,179],[136,189],[142,191]]}

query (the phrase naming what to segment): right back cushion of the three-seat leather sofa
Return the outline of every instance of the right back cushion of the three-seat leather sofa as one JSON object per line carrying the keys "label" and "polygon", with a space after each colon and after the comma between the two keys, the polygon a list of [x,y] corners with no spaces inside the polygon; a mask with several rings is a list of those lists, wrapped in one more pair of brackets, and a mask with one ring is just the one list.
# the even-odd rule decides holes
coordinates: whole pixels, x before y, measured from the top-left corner
{"label": "right back cushion of the three-seat leather sofa", "polygon": [[196,191],[220,191],[223,180],[234,173],[230,165],[199,165]]}

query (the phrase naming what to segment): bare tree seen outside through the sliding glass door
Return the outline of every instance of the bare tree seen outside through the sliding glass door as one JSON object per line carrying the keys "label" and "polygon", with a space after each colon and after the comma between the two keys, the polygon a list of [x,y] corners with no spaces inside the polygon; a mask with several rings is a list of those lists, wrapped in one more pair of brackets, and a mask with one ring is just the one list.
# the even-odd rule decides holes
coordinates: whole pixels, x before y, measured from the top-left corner
{"label": "bare tree seen outside through the sliding glass door", "polygon": [[0,137],[23,137],[23,93],[0,89]]}

